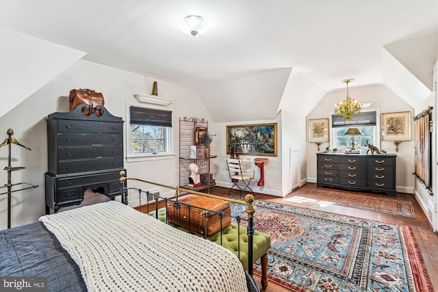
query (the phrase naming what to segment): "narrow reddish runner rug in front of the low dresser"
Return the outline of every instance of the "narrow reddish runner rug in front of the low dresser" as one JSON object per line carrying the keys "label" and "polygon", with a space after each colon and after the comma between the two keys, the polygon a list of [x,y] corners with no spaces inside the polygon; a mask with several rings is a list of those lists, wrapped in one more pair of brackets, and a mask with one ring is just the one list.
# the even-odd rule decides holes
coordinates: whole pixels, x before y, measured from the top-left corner
{"label": "narrow reddish runner rug in front of the low dresser", "polygon": [[334,204],[344,207],[415,218],[415,211],[412,202],[399,200],[397,198],[364,196],[363,194],[354,194],[351,192],[341,193],[339,191],[331,191],[320,187],[298,189],[298,191],[294,191],[292,196],[288,198],[293,198],[295,200],[309,198],[311,200],[322,202],[333,202]]}

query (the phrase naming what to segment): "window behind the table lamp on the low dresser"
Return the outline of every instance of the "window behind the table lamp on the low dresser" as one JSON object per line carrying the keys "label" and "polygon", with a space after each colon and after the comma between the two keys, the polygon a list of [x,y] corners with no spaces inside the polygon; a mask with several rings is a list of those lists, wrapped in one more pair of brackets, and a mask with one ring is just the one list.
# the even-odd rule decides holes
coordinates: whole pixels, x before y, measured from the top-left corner
{"label": "window behind the table lamp on the low dresser", "polygon": [[[352,120],[344,120],[344,116],[332,115],[333,148],[350,148],[355,142],[355,148],[365,148],[365,144],[380,146],[377,137],[376,111],[364,111],[352,115]],[[345,135],[350,128],[356,128],[362,135]]]}

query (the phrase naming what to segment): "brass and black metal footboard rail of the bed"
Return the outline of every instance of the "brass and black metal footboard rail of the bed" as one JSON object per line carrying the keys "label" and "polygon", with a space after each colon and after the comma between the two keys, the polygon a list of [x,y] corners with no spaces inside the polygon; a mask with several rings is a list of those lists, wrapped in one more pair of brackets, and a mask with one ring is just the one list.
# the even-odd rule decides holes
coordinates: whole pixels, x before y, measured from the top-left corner
{"label": "brass and black metal footboard rail of the bed", "polygon": [[[127,187],[127,181],[140,181],[142,183],[148,183],[148,184],[151,184],[151,185],[157,185],[159,187],[166,187],[167,189],[174,189],[175,190],[175,201],[173,201],[173,200],[170,200],[168,198],[163,198],[163,197],[161,197],[161,196],[159,196],[157,194],[154,194],[152,192],[144,191],[142,189],[137,189],[139,191],[139,194],[144,192],[144,193],[146,193],[146,195],[151,194],[154,197],[154,199],[155,199],[155,215],[156,216],[158,216],[158,200],[159,200],[159,198],[163,199],[165,202],[168,202],[168,201],[178,202],[178,197],[180,196],[179,192],[195,194],[195,195],[198,195],[198,196],[204,196],[204,197],[208,197],[208,198],[215,198],[215,199],[218,199],[218,200],[225,200],[225,201],[228,201],[228,202],[235,202],[237,204],[244,204],[244,205],[246,205],[246,210],[245,211],[246,211],[246,213],[248,215],[248,219],[247,220],[242,218],[242,217],[240,217],[240,216],[233,216],[233,215],[230,216],[230,215],[227,215],[227,214],[222,214],[222,215],[227,215],[227,216],[230,216],[230,217],[234,218],[237,221],[237,226],[239,226],[239,227],[240,227],[240,220],[244,220],[244,221],[248,222],[248,226],[246,227],[247,235],[248,235],[248,274],[253,276],[253,247],[254,247],[253,246],[253,236],[255,234],[255,226],[254,226],[254,222],[253,222],[254,213],[255,213],[255,207],[253,205],[253,202],[254,202],[254,196],[253,195],[247,194],[245,196],[245,201],[236,200],[236,199],[233,199],[233,198],[227,198],[227,197],[216,196],[216,195],[207,194],[207,193],[201,193],[200,191],[192,191],[191,189],[184,189],[182,187],[172,187],[170,185],[164,185],[162,183],[155,183],[153,181],[146,181],[146,180],[143,180],[141,178],[125,177],[125,171],[122,170],[122,171],[120,171],[120,183],[121,183],[121,191],[122,191],[122,201],[123,201],[124,204],[128,203],[128,200],[127,200],[127,196],[128,196],[127,190],[128,189],[134,189],[134,188],[128,188]],[[146,196],[146,198],[148,198],[148,196]],[[146,199],[146,201],[149,202],[149,200],[147,200],[147,199]],[[140,206],[141,206],[141,200],[140,200]],[[198,207],[198,206],[194,206],[194,207],[196,207],[197,209],[203,209],[203,208]],[[214,212],[214,213],[218,213],[216,211],[212,211],[212,210],[208,210],[208,209],[203,209],[203,210],[204,211],[211,211],[211,212]],[[149,211],[148,211],[148,213],[149,213]],[[220,232],[221,232],[221,243],[222,243],[222,230]],[[238,233],[238,236],[240,237],[240,233]],[[204,237],[205,237],[205,235],[204,235]],[[240,244],[240,239],[238,240],[238,243]],[[238,254],[240,254],[240,248],[238,248]],[[239,255],[239,257],[240,257],[240,255]]]}

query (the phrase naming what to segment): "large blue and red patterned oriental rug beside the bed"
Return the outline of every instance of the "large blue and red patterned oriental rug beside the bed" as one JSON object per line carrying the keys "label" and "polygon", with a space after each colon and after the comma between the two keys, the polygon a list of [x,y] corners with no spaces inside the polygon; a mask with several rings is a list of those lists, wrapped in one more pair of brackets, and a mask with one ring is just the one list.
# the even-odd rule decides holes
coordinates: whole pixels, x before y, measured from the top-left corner
{"label": "large blue and red patterned oriental rug beside the bed", "polygon": [[[233,215],[246,217],[232,203]],[[255,201],[271,236],[268,278],[292,291],[433,291],[409,226]],[[261,274],[259,262],[255,274]]]}

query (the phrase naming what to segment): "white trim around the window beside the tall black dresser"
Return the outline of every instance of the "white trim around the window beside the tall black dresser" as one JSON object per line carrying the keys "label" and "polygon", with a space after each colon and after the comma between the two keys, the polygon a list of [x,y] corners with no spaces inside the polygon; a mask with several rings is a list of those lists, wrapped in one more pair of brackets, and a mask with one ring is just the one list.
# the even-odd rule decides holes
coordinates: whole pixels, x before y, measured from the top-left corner
{"label": "white trim around the window beside the tall black dresser", "polygon": [[[160,109],[160,110],[168,110],[172,111],[172,127],[168,127],[167,131],[167,140],[168,140],[168,152],[159,152],[157,154],[153,153],[140,153],[140,154],[132,154],[131,153],[131,111],[130,107],[143,107],[145,109]],[[172,109],[163,109],[162,107],[153,107],[150,105],[138,105],[134,103],[127,103],[126,106],[126,161],[129,162],[138,162],[138,161],[153,161],[153,160],[163,160],[163,159],[175,159],[175,152],[174,152],[174,134],[173,129],[175,128],[175,125],[173,124],[173,121],[175,120],[173,117],[174,111]]]}

